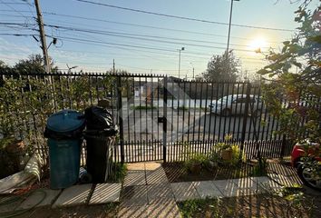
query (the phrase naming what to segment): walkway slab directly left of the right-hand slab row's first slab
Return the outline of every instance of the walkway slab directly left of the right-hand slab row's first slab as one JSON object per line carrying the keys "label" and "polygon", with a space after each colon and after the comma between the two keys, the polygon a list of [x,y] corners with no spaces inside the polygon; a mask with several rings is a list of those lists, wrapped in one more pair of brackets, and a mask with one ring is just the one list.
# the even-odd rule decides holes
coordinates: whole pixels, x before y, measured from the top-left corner
{"label": "walkway slab directly left of the right-hand slab row's first slab", "polygon": [[174,199],[174,194],[170,188],[170,183],[148,185],[147,196],[149,203],[154,199],[160,198]]}

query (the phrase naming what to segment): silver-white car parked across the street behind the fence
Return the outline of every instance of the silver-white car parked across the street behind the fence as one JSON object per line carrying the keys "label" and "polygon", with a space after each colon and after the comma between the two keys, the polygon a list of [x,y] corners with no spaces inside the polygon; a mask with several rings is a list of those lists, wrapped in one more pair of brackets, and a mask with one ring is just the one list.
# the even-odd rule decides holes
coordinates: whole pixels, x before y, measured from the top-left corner
{"label": "silver-white car parked across the street behind the fence", "polygon": [[[209,104],[209,112],[224,116],[244,114],[247,104],[247,94],[230,94],[214,100]],[[253,109],[253,113],[251,113]],[[257,96],[249,95],[248,114],[258,116],[263,110],[262,100]]]}

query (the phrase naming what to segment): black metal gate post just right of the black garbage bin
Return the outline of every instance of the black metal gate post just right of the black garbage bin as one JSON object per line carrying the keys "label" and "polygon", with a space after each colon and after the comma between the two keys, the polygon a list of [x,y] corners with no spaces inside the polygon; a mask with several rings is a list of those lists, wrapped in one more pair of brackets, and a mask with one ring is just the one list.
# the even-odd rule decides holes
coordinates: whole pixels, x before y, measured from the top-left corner
{"label": "black metal gate post just right of the black garbage bin", "polygon": [[123,147],[123,120],[122,120],[122,77],[117,76],[117,111],[120,126],[120,143],[121,143],[121,162],[125,162]]}

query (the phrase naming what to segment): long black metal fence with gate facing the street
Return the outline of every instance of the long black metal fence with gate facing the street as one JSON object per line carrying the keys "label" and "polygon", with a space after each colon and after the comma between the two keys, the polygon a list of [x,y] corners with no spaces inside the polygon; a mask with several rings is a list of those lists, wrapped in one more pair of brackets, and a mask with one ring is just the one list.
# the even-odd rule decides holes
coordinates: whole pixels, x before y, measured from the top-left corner
{"label": "long black metal fence with gate facing the street", "polygon": [[[226,134],[247,158],[282,157],[292,144],[278,134],[280,124],[268,113],[258,84],[196,82],[155,74],[3,74],[0,85],[17,92],[7,101],[15,108],[21,135],[31,130],[35,147],[46,154],[45,119],[64,108],[83,111],[100,104],[120,126],[114,149],[118,162],[180,161],[183,144],[209,154]],[[15,84],[15,83],[14,83]],[[9,88],[10,88],[9,87]],[[280,99],[281,104],[287,104]],[[11,110],[1,108],[1,110]],[[1,122],[1,121],[0,121]],[[85,145],[82,163],[85,164]]]}

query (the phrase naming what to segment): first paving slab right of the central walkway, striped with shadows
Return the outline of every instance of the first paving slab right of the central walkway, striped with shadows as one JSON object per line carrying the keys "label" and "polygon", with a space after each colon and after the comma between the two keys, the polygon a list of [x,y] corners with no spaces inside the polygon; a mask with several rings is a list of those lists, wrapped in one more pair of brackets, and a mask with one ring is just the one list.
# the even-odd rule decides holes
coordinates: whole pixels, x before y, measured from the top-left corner
{"label": "first paving slab right of the central walkway, striped with shadows", "polygon": [[199,193],[196,191],[192,182],[170,183],[170,187],[177,202],[199,199]]}

